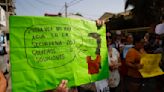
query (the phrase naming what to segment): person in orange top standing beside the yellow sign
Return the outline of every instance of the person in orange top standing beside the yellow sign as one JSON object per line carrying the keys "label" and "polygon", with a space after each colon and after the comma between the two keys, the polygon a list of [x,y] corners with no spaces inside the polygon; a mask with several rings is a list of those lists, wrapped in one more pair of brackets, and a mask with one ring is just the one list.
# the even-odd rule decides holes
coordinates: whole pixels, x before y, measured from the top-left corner
{"label": "person in orange top standing beside the yellow sign", "polygon": [[144,53],[143,47],[144,41],[142,37],[135,35],[134,47],[129,49],[125,58],[128,68],[126,92],[141,92],[143,78],[139,69],[143,67],[143,65],[140,64],[141,55]]}

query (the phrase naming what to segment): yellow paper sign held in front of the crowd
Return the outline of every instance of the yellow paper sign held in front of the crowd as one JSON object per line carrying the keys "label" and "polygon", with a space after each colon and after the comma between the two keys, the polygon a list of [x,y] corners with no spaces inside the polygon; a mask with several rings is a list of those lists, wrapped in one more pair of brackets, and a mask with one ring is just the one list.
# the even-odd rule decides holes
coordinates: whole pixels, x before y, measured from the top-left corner
{"label": "yellow paper sign held in front of the crowd", "polygon": [[143,68],[140,69],[140,73],[143,78],[155,77],[164,74],[162,69],[159,67],[161,61],[161,54],[144,54],[141,57],[141,64]]}

